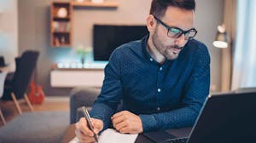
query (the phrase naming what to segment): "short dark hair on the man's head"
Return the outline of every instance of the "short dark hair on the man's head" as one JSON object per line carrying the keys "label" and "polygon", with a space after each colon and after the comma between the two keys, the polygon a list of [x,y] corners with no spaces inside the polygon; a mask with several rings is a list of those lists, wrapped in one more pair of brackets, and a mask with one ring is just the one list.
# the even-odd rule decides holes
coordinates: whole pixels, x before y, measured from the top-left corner
{"label": "short dark hair on the man's head", "polygon": [[195,0],[153,0],[149,14],[162,17],[167,7],[172,6],[180,9],[195,10]]}

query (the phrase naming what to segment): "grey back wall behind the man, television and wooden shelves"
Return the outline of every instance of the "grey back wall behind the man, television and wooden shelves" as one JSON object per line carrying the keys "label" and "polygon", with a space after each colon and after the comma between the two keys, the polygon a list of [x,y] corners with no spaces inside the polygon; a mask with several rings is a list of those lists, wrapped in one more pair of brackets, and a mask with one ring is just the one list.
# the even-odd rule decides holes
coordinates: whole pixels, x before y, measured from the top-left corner
{"label": "grey back wall behind the man, television and wooden shelves", "polygon": [[[109,0],[110,1],[110,0]],[[114,0],[113,0],[114,1]],[[118,9],[76,8],[73,13],[73,49],[52,49],[49,45],[49,6],[52,0],[22,0],[19,9],[19,49],[40,51],[38,60],[38,83],[43,84],[47,95],[67,95],[70,89],[51,88],[49,72],[53,63],[79,61],[75,48],[91,46],[92,25],[96,24],[145,24],[151,1],[115,0]],[[222,22],[222,0],[196,0],[196,37],[206,43],[212,55],[212,84],[219,89],[220,50],[212,47],[216,27]]]}

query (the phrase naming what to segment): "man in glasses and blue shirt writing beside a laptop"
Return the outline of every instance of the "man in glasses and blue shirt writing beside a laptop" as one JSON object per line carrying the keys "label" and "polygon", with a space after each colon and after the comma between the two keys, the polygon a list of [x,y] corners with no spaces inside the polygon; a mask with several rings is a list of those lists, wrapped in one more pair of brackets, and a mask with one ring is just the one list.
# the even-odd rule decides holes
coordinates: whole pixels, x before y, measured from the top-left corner
{"label": "man in glasses and blue shirt writing beside a laptop", "polygon": [[[210,56],[196,40],[194,0],[153,0],[149,35],[113,51],[102,92],[90,115],[98,134],[113,125],[120,133],[192,126],[209,94]],[[116,112],[120,100],[121,112]],[[94,142],[84,117],[81,142]]]}

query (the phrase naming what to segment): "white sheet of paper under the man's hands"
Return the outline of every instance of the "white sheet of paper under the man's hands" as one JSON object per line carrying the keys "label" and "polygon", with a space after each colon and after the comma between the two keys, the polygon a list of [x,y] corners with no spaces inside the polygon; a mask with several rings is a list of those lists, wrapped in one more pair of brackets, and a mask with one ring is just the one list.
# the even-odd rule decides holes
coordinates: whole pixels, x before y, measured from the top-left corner
{"label": "white sheet of paper under the man's hands", "polygon": [[[106,129],[99,136],[99,143],[134,143],[136,139],[137,134],[120,134],[115,129]],[[79,143],[79,139],[75,137],[69,143]]]}

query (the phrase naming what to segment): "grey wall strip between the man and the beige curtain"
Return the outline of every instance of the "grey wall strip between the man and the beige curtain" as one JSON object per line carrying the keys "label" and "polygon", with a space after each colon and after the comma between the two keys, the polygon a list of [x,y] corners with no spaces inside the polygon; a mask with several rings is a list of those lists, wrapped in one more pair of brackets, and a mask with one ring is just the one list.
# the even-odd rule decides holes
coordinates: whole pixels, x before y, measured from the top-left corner
{"label": "grey wall strip between the man and the beige curtain", "polygon": [[224,0],[195,0],[195,27],[199,31],[196,38],[207,44],[211,54],[211,89],[220,90],[221,49],[213,47],[212,42],[221,25],[224,14]]}

